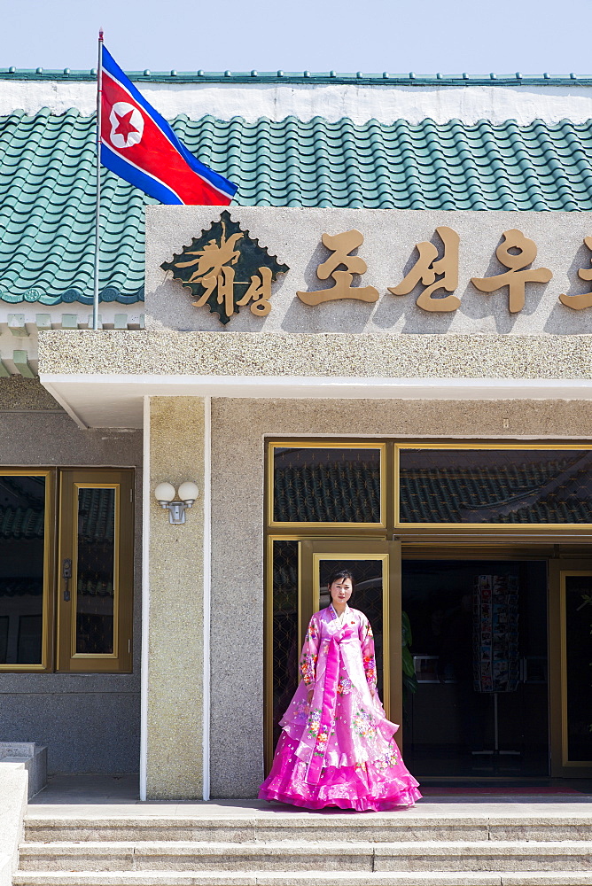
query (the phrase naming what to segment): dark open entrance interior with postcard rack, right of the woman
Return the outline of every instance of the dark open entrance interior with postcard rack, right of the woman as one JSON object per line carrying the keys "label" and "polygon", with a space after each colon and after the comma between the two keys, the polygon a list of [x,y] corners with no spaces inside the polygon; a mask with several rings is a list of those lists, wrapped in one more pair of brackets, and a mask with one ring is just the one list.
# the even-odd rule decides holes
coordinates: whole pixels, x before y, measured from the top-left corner
{"label": "dark open entrance interior with postcard rack, right of the woman", "polygon": [[549,774],[546,561],[404,560],[417,776]]}

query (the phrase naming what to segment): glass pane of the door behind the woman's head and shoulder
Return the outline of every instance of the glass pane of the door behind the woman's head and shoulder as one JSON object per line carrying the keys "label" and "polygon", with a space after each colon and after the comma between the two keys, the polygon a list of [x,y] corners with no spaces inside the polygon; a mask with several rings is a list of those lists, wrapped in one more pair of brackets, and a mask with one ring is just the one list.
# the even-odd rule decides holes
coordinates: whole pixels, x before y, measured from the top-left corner
{"label": "glass pane of the door behind the woman's head and shoulder", "polygon": [[374,648],[376,653],[376,666],[378,673],[378,695],[385,702],[383,694],[383,563],[382,560],[347,560],[339,557],[339,560],[321,560],[320,582],[321,601],[320,608],[329,606],[331,598],[327,588],[327,582],[331,572],[338,569],[349,569],[355,579],[355,589],[349,605],[353,609],[360,610],[369,619],[374,633]]}

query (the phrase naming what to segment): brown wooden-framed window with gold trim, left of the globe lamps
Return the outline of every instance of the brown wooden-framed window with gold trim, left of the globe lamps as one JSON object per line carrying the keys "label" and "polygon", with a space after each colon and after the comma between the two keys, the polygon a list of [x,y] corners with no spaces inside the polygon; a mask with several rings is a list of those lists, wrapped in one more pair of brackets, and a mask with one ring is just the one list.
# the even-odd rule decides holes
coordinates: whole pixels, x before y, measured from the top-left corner
{"label": "brown wooden-framed window with gold trim, left of the globe lamps", "polygon": [[133,471],[0,468],[0,672],[130,672]]}

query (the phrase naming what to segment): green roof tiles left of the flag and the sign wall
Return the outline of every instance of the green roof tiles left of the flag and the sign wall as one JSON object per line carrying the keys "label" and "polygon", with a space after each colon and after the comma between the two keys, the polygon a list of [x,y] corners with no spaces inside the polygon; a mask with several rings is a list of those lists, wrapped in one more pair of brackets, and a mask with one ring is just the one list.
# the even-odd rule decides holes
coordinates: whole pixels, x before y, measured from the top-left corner
{"label": "green roof tiles left of the flag and the sign wall", "polygon": [[[0,118],[0,299],[92,304],[94,119],[47,110]],[[143,298],[143,195],[106,174],[104,301]]]}

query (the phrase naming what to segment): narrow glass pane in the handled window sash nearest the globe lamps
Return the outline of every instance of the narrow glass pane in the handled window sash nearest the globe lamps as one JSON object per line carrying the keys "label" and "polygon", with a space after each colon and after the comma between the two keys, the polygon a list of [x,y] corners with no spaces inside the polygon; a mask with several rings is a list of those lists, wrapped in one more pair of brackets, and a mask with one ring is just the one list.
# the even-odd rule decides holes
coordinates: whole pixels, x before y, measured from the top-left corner
{"label": "narrow glass pane in the handled window sash nearest the globe lamps", "polygon": [[78,490],[76,653],[113,654],[115,489]]}

